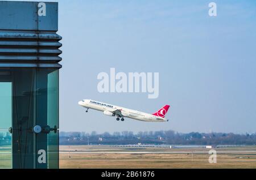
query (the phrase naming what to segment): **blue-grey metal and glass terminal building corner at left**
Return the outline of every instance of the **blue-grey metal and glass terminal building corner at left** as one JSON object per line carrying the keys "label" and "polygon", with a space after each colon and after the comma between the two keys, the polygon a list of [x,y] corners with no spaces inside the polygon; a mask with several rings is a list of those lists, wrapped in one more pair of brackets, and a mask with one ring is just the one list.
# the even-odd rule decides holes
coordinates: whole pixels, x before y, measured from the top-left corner
{"label": "blue-grey metal and glass terminal building corner at left", "polygon": [[57,31],[56,2],[0,1],[0,168],[59,168]]}

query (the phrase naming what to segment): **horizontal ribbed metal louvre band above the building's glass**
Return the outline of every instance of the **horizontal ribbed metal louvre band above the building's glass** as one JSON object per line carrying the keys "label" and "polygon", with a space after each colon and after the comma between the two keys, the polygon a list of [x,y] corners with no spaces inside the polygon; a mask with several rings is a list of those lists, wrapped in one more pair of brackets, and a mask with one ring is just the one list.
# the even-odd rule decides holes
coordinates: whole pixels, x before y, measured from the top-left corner
{"label": "horizontal ribbed metal louvre band above the building's glass", "polygon": [[57,63],[61,36],[55,31],[0,30],[0,63]]}

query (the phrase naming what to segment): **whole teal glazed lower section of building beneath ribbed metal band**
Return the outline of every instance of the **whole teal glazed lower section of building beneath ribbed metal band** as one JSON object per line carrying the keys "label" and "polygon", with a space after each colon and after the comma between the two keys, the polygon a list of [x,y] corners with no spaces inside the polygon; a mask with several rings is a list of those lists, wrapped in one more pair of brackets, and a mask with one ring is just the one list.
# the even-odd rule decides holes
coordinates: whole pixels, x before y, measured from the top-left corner
{"label": "whole teal glazed lower section of building beneath ribbed metal band", "polygon": [[[11,83],[7,83],[11,82]],[[36,133],[35,126],[42,131]],[[59,71],[56,68],[0,69],[0,165],[10,168],[59,167]],[[3,143],[5,140],[5,144]],[[5,147],[3,147],[5,145]],[[8,146],[9,145],[9,146]],[[6,162],[9,160],[9,164]]]}

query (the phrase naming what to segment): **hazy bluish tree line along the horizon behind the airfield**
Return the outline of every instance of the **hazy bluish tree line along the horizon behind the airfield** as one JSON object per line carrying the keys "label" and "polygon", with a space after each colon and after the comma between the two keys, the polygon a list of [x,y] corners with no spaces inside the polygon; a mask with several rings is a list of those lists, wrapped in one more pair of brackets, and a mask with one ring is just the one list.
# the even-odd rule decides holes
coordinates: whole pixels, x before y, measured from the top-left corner
{"label": "hazy bluish tree line along the horizon behind the airfield", "polygon": [[133,131],[60,132],[60,144],[175,144],[175,145],[255,145],[256,133],[234,134],[221,132]]}

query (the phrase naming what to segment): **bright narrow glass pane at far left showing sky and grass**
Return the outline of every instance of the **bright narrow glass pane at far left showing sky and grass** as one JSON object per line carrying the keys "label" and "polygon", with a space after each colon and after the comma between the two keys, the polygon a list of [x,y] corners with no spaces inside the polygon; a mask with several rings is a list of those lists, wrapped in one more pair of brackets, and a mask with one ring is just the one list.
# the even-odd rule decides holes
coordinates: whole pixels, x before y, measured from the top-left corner
{"label": "bright narrow glass pane at far left showing sky and grass", "polygon": [[0,168],[11,168],[11,117],[11,83],[0,82]]}

